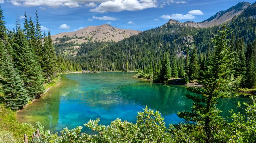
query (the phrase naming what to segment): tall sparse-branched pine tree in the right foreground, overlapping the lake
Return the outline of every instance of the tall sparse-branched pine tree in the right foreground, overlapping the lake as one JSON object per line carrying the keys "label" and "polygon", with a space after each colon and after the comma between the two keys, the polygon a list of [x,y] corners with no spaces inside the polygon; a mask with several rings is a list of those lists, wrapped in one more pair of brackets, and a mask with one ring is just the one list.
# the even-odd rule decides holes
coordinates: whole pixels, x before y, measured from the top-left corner
{"label": "tall sparse-branched pine tree in the right foreground, overlapping the lake", "polygon": [[[208,70],[204,72],[201,88],[187,87],[189,91],[192,91],[201,96],[186,95],[187,98],[194,101],[191,112],[179,112],[178,116],[184,118],[187,124],[195,125],[201,124],[203,131],[206,133],[204,137],[205,142],[221,142],[217,137],[218,131],[223,130],[226,121],[223,117],[219,116],[222,112],[216,107],[219,97],[229,96],[224,91],[230,90],[227,84],[229,79],[225,79],[226,75],[232,71],[228,68],[233,64],[233,54],[230,52],[230,45],[226,37],[230,34],[225,30],[225,26],[222,26],[221,36],[215,36],[212,42],[215,43],[215,52],[212,59],[208,62]],[[216,135],[214,135],[216,134]]]}

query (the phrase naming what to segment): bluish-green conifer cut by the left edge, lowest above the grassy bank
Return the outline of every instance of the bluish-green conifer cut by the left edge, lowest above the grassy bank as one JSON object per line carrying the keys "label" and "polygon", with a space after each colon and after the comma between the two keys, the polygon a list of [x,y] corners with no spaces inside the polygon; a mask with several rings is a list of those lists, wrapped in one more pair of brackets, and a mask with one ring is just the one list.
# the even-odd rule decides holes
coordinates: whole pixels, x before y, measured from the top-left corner
{"label": "bluish-green conifer cut by the left edge, lowest above the grassy bank", "polygon": [[29,98],[20,76],[13,67],[11,56],[7,54],[4,47],[2,40],[0,40],[0,82],[2,87],[0,92],[4,94],[5,106],[17,110],[27,104]]}

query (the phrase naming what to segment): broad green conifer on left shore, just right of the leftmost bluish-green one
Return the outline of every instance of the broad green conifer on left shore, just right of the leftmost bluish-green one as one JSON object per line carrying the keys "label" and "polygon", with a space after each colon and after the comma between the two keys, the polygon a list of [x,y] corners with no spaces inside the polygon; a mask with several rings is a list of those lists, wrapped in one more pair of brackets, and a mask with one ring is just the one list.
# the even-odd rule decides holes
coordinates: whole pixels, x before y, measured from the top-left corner
{"label": "broad green conifer on left shore, just right of the leftmost bluish-green one", "polygon": [[21,30],[18,31],[11,45],[16,51],[14,67],[19,71],[24,87],[31,99],[39,97],[44,91],[41,67],[35,60],[35,53],[28,46],[25,35]]}

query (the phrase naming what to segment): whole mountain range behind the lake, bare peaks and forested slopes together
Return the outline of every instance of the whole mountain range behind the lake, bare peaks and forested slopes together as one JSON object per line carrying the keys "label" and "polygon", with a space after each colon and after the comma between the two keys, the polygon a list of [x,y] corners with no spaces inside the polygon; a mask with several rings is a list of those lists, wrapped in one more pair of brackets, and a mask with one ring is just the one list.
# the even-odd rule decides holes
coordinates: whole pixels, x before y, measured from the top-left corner
{"label": "whole mountain range behind the lake, bare peaks and forested slopes together", "polygon": [[[206,55],[207,47],[212,51],[211,39],[220,30],[220,24],[233,31],[228,36],[232,44],[243,40],[245,48],[255,38],[255,16],[256,4],[241,2],[198,23],[169,20],[143,32],[103,24],[52,38],[61,72],[74,71],[74,65],[82,70],[136,71],[153,66],[164,52],[177,56],[180,66],[184,66],[186,53],[191,54],[194,46],[199,55]],[[170,60],[172,63],[173,58]]]}

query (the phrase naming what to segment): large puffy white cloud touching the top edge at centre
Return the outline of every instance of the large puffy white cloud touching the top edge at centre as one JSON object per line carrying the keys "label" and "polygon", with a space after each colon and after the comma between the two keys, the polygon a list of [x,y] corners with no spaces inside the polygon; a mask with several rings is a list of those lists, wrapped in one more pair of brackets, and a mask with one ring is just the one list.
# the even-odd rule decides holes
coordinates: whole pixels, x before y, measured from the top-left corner
{"label": "large puffy white cloud touching the top edge at centre", "polygon": [[109,0],[101,3],[98,7],[90,9],[90,12],[119,12],[136,11],[146,8],[157,8],[157,0]]}

